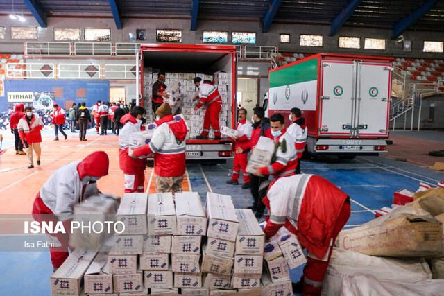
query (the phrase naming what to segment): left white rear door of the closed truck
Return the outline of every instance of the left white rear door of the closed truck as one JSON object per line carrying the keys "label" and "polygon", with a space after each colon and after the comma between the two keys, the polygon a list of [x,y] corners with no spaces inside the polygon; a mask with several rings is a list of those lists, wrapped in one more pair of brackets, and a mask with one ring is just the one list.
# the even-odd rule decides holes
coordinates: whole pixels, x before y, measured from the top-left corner
{"label": "left white rear door of the closed truck", "polygon": [[321,61],[319,135],[350,135],[355,121],[355,79],[355,62]]}

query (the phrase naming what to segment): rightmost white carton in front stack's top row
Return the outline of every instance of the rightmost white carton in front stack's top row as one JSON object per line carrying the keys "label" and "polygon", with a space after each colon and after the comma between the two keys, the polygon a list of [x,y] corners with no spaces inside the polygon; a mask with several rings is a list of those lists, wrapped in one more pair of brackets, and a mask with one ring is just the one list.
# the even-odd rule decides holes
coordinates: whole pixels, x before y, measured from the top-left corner
{"label": "rightmost white carton in front stack's top row", "polygon": [[237,209],[239,229],[236,238],[236,254],[264,254],[265,234],[257,223],[253,211]]}

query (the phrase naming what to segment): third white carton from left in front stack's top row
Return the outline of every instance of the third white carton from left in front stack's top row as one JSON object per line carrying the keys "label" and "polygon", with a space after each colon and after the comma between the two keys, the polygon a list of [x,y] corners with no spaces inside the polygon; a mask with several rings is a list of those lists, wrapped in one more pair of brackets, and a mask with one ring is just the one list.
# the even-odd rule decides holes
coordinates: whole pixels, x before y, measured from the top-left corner
{"label": "third white carton from left in front stack's top row", "polygon": [[177,234],[205,236],[207,218],[200,196],[196,192],[176,193]]}

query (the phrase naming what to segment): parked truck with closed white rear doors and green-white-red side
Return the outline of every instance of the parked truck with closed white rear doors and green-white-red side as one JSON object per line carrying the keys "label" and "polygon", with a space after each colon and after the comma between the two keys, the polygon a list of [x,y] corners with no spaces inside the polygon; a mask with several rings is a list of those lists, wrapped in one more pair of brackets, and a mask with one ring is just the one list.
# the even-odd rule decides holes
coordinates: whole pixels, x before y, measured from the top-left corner
{"label": "parked truck with closed white rear doors and green-white-red side", "polygon": [[311,155],[386,152],[393,58],[318,53],[268,73],[267,115],[298,107]]}

